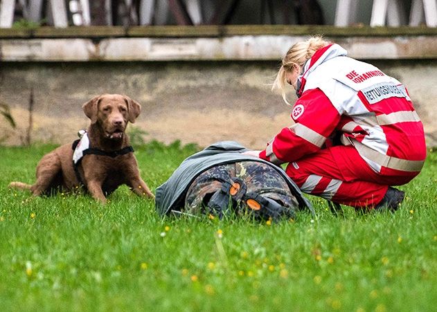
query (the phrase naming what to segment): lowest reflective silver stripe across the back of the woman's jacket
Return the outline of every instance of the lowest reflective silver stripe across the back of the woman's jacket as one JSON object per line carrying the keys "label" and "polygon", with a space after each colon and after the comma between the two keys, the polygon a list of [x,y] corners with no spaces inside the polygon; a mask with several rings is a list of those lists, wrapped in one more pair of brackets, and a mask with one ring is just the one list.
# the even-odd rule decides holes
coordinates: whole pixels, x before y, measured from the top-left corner
{"label": "lowest reflective silver stripe across the back of the woman's jacket", "polygon": [[374,163],[377,163],[382,167],[406,172],[418,172],[422,169],[423,164],[425,163],[425,160],[407,160],[384,155],[375,151],[375,149],[371,149],[370,147],[359,143],[357,140],[353,140],[353,145],[361,156],[372,160]]}

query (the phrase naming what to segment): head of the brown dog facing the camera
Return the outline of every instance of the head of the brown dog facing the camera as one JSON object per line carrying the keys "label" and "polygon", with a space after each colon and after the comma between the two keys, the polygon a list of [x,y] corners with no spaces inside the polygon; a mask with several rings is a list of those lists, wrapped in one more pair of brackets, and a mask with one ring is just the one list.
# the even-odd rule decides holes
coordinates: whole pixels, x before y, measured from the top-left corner
{"label": "head of the brown dog facing the camera", "polygon": [[135,122],[141,112],[141,105],[126,95],[103,94],[82,105],[91,124],[98,123],[106,138],[123,138],[127,122]]}

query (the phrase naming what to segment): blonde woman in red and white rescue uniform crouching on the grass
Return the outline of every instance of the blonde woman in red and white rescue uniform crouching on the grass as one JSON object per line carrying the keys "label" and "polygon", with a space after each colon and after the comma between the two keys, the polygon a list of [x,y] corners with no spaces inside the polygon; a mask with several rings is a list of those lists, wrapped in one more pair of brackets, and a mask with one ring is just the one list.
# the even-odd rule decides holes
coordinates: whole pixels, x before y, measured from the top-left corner
{"label": "blonde woman in red and white rescue uniform crouching on the grass", "polygon": [[[274,82],[296,90],[295,125],[250,154],[277,165],[303,192],[355,208],[395,210],[426,157],[422,122],[405,87],[338,44],[313,37],[292,46]],[[287,102],[288,104],[288,102]]]}

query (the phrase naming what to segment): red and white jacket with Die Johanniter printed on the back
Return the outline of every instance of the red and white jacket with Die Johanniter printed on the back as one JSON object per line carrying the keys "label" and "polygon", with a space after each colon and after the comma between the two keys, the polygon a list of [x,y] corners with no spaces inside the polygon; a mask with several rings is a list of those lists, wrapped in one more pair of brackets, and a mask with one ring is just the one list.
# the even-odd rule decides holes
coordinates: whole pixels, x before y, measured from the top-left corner
{"label": "red and white jacket with Die Johanniter printed on the back", "polygon": [[298,79],[300,98],[286,127],[260,152],[280,164],[298,160],[341,134],[380,174],[420,172],[426,157],[422,122],[405,87],[371,64],[331,44],[314,53]]}

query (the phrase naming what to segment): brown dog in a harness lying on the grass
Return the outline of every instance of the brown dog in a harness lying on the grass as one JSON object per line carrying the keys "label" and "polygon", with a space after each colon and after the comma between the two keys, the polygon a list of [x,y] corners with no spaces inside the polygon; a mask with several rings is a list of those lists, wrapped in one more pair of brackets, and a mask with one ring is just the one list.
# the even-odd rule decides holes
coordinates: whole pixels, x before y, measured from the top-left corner
{"label": "brown dog in a harness lying on the grass", "polygon": [[35,184],[12,182],[9,186],[29,189],[39,196],[59,188],[75,190],[83,185],[94,199],[105,203],[105,195],[126,184],[135,194],[154,198],[141,179],[125,134],[127,122],[135,122],[141,105],[124,95],[104,94],[83,104],[82,109],[91,119],[91,125],[79,146],[88,148],[75,149],[73,155],[71,144],[62,145],[39,161]]}

